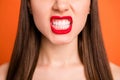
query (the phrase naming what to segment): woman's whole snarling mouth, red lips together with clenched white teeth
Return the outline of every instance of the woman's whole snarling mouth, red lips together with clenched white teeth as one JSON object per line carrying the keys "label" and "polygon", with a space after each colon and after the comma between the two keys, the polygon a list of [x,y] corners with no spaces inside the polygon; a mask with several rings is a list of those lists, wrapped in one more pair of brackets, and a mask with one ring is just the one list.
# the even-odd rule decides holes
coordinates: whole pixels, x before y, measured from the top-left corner
{"label": "woman's whole snarling mouth, red lips together with clenched white teeth", "polygon": [[51,30],[55,34],[67,34],[72,29],[71,16],[52,16],[50,19]]}

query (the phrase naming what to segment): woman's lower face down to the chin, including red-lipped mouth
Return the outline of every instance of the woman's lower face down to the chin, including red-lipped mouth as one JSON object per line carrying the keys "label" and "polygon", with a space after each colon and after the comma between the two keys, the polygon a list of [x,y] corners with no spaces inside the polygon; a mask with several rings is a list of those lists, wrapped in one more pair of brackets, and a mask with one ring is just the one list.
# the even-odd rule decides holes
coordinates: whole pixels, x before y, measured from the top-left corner
{"label": "woman's lower face down to the chin, including red-lipped mouth", "polygon": [[90,0],[30,0],[34,22],[44,38],[54,44],[77,39],[90,9]]}

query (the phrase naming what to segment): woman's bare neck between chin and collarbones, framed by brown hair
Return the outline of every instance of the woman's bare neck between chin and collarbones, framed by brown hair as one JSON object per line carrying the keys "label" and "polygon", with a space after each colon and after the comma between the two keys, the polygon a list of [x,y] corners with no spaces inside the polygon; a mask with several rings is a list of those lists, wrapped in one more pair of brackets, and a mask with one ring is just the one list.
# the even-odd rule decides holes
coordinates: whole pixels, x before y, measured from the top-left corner
{"label": "woman's bare neck between chin and collarbones, framed by brown hair", "polygon": [[77,44],[77,38],[71,43],[63,45],[51,44],[49,41],[43,38],[38,64],[51,66],[81,64]]}

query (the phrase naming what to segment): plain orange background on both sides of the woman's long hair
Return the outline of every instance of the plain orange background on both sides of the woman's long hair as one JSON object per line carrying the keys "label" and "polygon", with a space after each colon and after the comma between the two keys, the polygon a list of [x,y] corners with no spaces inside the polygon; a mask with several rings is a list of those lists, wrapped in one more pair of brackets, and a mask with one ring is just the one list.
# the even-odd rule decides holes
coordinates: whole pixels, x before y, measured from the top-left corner
{"label": "plain orange background on both sides of the woman's long hair", "polygon": [[[111,62],[120,66],[120,0],[99,0],[102,32]],[[0,0],[0,64],[8,62],[14,45],[20,0]]]}

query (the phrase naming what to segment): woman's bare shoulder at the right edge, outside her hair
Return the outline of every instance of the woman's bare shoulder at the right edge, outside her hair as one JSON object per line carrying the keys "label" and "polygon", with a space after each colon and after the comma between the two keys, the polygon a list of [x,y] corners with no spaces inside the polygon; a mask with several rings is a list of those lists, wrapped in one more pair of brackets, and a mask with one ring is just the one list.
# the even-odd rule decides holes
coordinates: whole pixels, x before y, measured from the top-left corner
{"label": "woman's bare shoulder at the right edge, outside her hair", "polygon": [[120,67],[113,63],[110,63],[110,67],[111,67],[113,79],[120,80]]}

